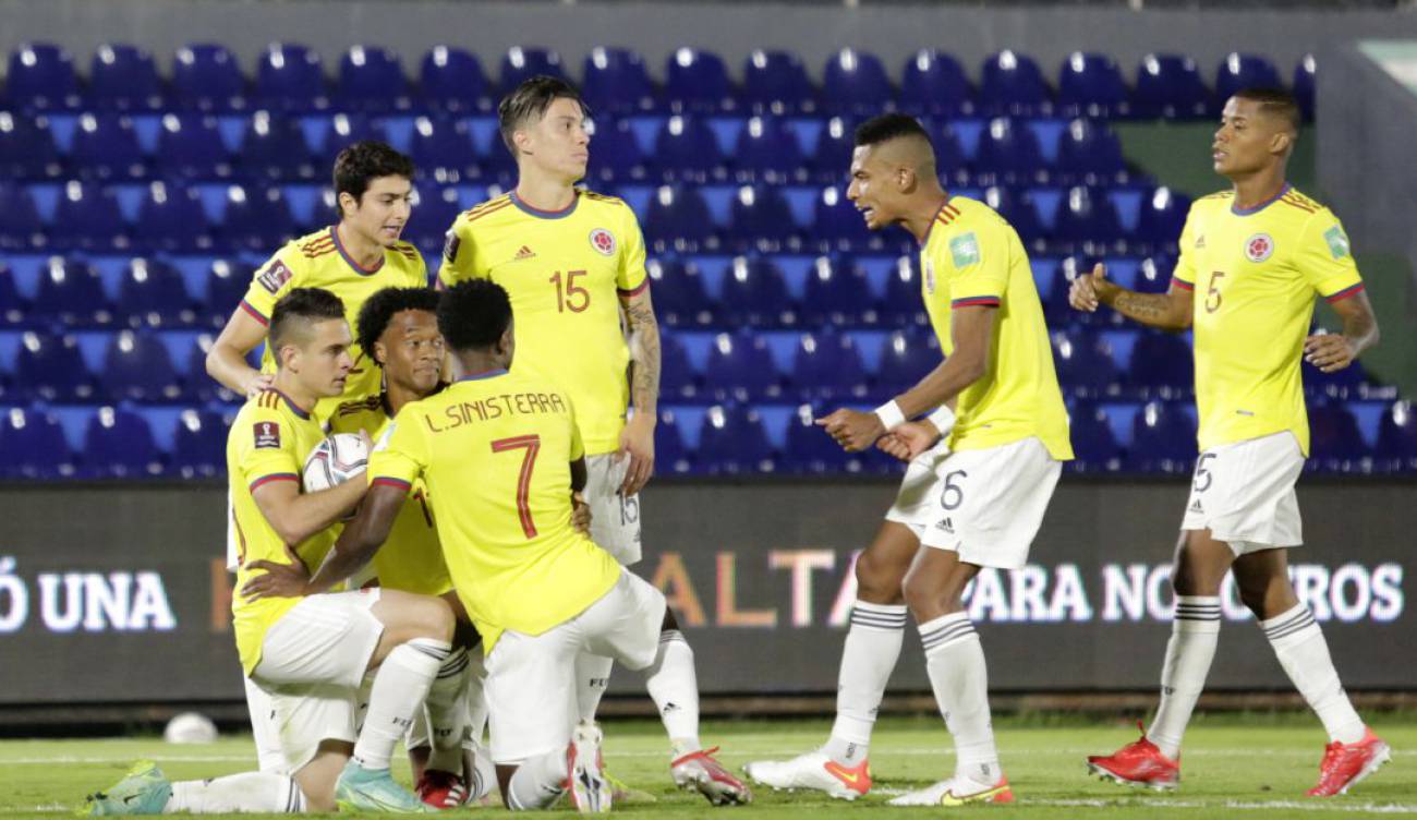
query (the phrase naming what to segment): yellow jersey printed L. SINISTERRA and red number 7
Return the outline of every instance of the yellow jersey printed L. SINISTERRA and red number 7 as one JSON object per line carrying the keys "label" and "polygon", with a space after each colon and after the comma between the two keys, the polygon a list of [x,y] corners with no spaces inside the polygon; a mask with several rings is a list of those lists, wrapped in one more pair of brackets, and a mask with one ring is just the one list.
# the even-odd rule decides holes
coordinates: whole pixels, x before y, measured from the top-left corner
{"label": "yellow jersey printed L. SINISTERRA and red number 7", "polygon": [[503,630],[537,636],[595,603],[621,567],[571,526],[584,455],[570,396],[493,370],[407,404],[370,455],[370,484],[428,485],[453,587],[490,653]]}

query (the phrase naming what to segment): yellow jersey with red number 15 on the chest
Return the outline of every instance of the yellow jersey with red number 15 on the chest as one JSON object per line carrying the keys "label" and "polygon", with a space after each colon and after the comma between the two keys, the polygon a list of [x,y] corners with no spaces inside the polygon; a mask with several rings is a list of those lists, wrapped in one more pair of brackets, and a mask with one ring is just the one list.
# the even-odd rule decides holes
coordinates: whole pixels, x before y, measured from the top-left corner
{"label": "yellow jersey with red number 15 on the chest", "polygon": [[438,281],[485,278],[506,288],[516,318],[512,370],[571,394],[589,454],[619,448],[629,406],[629,348],[618,295],[649,287],[635,211],[577,190],[563,211],[509,193],[459,214]]}

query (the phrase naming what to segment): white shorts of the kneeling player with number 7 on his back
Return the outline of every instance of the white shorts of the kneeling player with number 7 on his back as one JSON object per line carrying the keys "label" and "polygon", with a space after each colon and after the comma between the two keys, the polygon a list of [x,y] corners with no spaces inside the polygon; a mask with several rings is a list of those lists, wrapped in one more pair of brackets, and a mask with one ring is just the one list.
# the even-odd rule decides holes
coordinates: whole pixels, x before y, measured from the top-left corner
{"label": "white shorts of the kneeling player with number 7 on his back", "polygon": [[631,670],[655,663],[665,596],[621,572],[611,592],[571,620],[538,634],[507,630],[487,655],[492,760],[517,765],[564,749],[580,719],[575,657],[615,658]]}

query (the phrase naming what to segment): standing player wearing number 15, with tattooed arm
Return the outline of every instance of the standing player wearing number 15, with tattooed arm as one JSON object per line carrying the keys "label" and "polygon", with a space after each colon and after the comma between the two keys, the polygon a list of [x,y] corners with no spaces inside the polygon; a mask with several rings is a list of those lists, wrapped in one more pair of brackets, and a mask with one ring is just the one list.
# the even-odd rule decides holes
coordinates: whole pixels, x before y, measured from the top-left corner
{"label": "standing player wearing number 15, with tattooed arm", "polygon": [[[438,279],[448,287],[485,278],[512,294],[516,367],[575,401],[591,535],[632,566],[640,559],[638,494],[655,464],[659,401],[659,325],[645,240],[625,201],[575,187],[585,176],[589,135],[570,84],[527,79],[502,101],[497,118],[517,162],[517,187],[458,217]],[[631,403],[635,413],[626,420]],[[609,658],[582,658],[582,718],[595,718],[609,674]]]}

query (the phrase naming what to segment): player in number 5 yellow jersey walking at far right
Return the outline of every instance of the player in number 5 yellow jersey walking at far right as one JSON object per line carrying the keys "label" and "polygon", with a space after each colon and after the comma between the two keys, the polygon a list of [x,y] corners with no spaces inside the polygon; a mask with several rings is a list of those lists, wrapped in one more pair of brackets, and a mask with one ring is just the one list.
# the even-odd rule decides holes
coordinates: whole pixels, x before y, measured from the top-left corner
{"label": "player in number 5 yellow jersey walking at far right", "polygon": [[[1285,182],[1298,128],[1299,109],[1287,91],[1231,96],[1213,145],[1214,170],[1231,189],[1190,207],[1169,291],[1128,291],[1098,265],[1068,294],[1080,311],[1108,305],[1153,328],[1192,328],[1196,340],[1200,458],[1172,570],[1176,619],[1161,707],[1141,741],[1088,758],[1107,779],[1158,789],[1180,779],[1180,739],[1216,653],[1227,572],[1328,731],[1309,794],[1338,794],[1389,758],[1353,711],[1323,633],[1288,575],[1288,549],[1302,543],[1294,482],[1309,451],[1299,360],[1332,373],[1377,343],[1343,226]],[[1315,297],[1342,318],[1342,333],[1308,335]]]}

